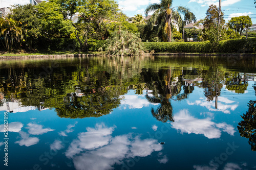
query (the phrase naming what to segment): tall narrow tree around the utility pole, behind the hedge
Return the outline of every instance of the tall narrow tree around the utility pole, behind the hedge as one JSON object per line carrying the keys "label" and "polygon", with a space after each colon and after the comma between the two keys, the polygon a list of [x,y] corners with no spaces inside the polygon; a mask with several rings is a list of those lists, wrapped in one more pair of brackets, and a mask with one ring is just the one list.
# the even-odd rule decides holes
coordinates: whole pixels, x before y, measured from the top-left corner
{"label": "tall narrow tree around the utility pole, behind the hedge", "polygon": [[[221,12],[220,26],[225,24],[223,17],[224,13]],[[210,5],[206,11],[206,17],[203,20],[204,29],[209,29],[210,27],[216,27],[218,25],[219,12],[216,5]]]}

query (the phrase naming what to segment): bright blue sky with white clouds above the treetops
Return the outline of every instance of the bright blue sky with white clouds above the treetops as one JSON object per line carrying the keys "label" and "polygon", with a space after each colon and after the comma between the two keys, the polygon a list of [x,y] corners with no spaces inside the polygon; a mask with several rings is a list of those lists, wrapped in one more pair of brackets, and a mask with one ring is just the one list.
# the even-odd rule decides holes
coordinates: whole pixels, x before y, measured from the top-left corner
{"label": "bright blue sky with white clouds above the treetops", "polygon": [[[144,14],[144,10],[149,4],[159,3],[160,0],[117,0],[119,8],[127,15]],[[0,0],[1,7],[8,7],[14,4],[28,4],[29,0]],[[187,6],[197,19],[205,17],[205,12],[211,4],[219,5],[219,0],[174,0],[173,6]],[[222,10],[225,19],[231,17],[249,15],[252,23],[256,23],[256,8],[253,0],[222,0]]]}

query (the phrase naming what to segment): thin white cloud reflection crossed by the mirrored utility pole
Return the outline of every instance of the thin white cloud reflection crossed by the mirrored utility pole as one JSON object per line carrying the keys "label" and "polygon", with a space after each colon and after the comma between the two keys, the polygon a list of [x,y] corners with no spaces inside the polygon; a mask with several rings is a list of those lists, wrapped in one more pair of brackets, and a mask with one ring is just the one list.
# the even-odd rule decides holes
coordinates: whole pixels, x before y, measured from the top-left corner
{"label": "thin white cloud reflection crossed by the mirrored utility pole", "polygon": [[213,101],[210,102],[208,102],[206,98],[197,100],[194,103],[187,101],[188,105],[199,105],[202,107],[206,107],[209,111],[220,111],[226,114],[230,114],[230,110],[234,111],[238,107],[238,104],[230,105],[231,103],[234,102],[222,96],[218,96],[218,109],[216,109],[215,98]]}

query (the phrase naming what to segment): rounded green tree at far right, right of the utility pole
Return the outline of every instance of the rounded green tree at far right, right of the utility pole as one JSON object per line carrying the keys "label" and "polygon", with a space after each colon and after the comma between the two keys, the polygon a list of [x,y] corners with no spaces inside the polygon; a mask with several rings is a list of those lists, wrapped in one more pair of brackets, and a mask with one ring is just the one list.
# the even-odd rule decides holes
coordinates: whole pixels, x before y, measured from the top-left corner
{"label": "rounded green tree at far right, right of the utility pole", "polygon": [[247,16],[238,16],[238,17],[232,17],[228,21],[228,26],[230,29],[233,29],[236,31],[236,33],[242,34],[243,31],[248,32],[249,27],[251,27],[252,22],[251,18]]}

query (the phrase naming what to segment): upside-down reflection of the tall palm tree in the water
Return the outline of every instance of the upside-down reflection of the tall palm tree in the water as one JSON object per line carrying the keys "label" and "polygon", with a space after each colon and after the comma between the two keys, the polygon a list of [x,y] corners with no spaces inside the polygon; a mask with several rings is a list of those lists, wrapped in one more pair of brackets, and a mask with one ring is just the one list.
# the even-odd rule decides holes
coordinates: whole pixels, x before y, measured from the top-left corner
{"label": "upside-down reflection of the tall palm tree in the water", "polygon": [[184,81],[180,70],[172,68],[160,70],[142,70],[142,77],[146,82],[146,87],[152,90],[151,95],[146,93],[145,98],[150,103],[160,104],[157,109],[151,108],[152,115],[161,122],[168,120],[174,122],[173,106],[170,100],[183,100],[187,98],[188,93],[191,93],[194,88],[184,86],[184,92],[181,92]]}

